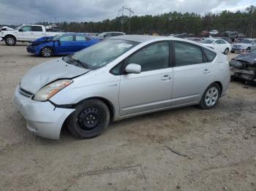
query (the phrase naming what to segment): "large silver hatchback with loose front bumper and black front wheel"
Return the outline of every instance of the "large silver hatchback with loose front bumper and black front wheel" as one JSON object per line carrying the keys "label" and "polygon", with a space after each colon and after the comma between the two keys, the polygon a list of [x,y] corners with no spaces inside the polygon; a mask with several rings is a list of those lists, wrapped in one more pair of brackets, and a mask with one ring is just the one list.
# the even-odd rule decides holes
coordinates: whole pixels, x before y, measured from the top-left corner
{"label": "large silver hatchback with loose front bumper and black front wheel", "polygon": [[211,109],[230,82],[227,56],[197,42],[124,35],[30,69],[15,108],[38,136],[98,136],[109,122],[198,105]]}

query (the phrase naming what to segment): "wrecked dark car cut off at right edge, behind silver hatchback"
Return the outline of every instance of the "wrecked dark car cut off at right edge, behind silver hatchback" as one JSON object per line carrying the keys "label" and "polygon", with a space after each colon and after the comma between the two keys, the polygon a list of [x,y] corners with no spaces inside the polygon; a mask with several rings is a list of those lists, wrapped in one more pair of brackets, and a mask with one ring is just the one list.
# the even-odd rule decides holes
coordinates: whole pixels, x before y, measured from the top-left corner
{"label": "wrecked dark car cut off at right edge, behind silver hatchback", "polygon": [[256,49],[233,58],[230,61],[230,70],[232,79],[256,83]]}

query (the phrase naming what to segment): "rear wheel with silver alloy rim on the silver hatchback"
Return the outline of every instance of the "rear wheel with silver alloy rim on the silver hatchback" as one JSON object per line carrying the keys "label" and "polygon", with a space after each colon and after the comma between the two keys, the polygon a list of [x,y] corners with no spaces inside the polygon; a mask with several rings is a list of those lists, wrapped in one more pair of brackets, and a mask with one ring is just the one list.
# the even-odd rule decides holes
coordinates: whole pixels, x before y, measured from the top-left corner
{"label": "rear wheel with silver alloy rim on the silver hatchback", "polygon": [[200,101],[201,109],[212,109],[214,108],[220,97],[220,87],[217,83],[211,84],[207,87],[206,91],[203,93],[203,96]]}

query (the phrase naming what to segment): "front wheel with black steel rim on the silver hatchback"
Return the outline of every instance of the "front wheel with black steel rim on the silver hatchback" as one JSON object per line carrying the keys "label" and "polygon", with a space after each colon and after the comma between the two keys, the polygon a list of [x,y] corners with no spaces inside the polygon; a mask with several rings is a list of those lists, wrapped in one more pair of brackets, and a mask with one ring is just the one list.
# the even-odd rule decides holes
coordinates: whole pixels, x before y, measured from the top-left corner
{"label": "front wheel with black steel rim on the silver hatchback", "polygon": [[68,120],[67,127],[77,139],[90,139],[99,136],[110,122],[110,111],[103,101],[91,99],[75,107]]}

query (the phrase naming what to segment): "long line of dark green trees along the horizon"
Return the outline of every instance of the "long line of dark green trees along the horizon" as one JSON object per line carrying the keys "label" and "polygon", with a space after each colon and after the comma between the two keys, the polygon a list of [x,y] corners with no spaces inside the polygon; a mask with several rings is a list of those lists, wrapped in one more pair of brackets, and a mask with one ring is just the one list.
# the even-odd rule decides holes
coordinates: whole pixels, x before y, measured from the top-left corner
{"label": "long line of dark green trees along the horizon", "polygon": [[[48,23],[37,23],[48,24]],[[248,37],[256,37],[256,6],[246,8],[246,11],[220,13],[169,12],[161,15],[143,15],[132,17],[116,17],[113,20],[99,22],[61,22],[57,23],[64,31],[101,33],[104,31],[124,31],[126,34],[180,34],[191,33],[200,35],[201,31],[217,29],[223,31],[238,31]]]}

